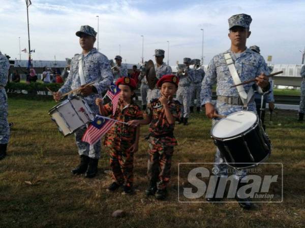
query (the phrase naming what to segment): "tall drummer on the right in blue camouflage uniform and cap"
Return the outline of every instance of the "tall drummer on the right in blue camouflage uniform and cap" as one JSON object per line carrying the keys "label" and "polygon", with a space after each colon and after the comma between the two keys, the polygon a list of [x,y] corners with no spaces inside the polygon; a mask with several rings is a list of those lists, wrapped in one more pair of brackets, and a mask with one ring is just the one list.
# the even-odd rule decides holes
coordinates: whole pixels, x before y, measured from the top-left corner
{"label": "tall drummer on the right in blue camouflage uniform and cap", "polygon": [[[235,85],[232,75],[229,71],[227,62],[225,60],[225,54],[229,53],[233,64],[238,73],[238,77],[241,82],[255,79],[256,84],[262,88],[263,91],[267,91],[270,88],[270,83],[265,74],[268,73],[266,63],[263,57],[246,47],[247,38],[251,32],[250,23],[252,21],[251,16],[247,14],[233,15],[228,19],[229,21],[229,39],[231,40],[231,48],[221,54],[216,55],[210,61],[206,75],[202,81],[201,87],[201,104],[205,106],[206,116],[208,118],[215,118],[217,113],[220,115],[229,115],[230,113],[243,110],[243,102],[239,96],[244,97],[255,83],[243,85],[245,93],[237,92],[236,87],[231,88]],[[227,54],[226,54],[227,55]],[[216,108],[211,102],[212,99],[212,86],[217,83],[217,103]],[[247,97],[246,94],[246,97]],[[256,112],[256,106],[253,97],[248,102],[245,102],[245,108]],[[212,124],[215,124],[219,119],[214,119]],[[217,175],[228,175],[227,165],[224,163],[224,158],[217,149],[215,156],[215,170],[218,170]],[[216,174],[216,173],[215,173]],[[235,178],[240,180],[246,175],[246,171],[242,170],[235,173]],[[240,183],[238,187],[240,187]],[[250,199],[241,199],[238,194],[235,196],[239,205],[243,208],[250,209],[252,204]],[[208,198],[208,201],[215,201],[215,195],[212,198]]]}

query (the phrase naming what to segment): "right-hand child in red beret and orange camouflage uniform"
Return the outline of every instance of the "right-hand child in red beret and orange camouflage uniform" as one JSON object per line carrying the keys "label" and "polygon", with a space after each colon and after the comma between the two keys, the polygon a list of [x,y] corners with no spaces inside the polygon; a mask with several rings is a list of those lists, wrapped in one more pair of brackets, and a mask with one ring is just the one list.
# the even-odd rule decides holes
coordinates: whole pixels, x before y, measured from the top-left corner
{"label": "right-hand child in red beret and orange camouflage uniform", "polygon": [[180,103],[173,100],[179,80],[173,74],[164,75],[158,82],[161,97],[147,105],[144,120],[130,121],[133,126],[149,126],[149,159],[147,175],[149,187],[146,195],[155,195],[158,200],[167,196],[166,187],[170,179],[171,159],[177,140],[173,135],[175,121],[179,121]]}

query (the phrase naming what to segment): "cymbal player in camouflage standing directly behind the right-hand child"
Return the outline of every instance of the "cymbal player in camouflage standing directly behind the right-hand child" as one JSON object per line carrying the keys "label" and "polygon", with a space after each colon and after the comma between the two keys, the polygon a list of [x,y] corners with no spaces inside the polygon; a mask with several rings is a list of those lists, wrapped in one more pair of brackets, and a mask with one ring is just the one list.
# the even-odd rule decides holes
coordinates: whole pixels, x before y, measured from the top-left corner
{"label": "cymbal player in camouflage standing directly behind the right-hand child", "polygon": [[[155,64],[155,70],[156,70],[156,77],[157,79],[161,79],[163,75],[165,74],[171,74],[172,69],[170,66],[166,65],[165,62],[163,62],[164,59],[164,53],[165,51],[162,49],[156,49],[155,50],[155,59],[156,59],[156,64]],[[155,87],[155,89],[151,90],[148,89],[147,92],[147,101],[150,102],[152,99],[156,99],[160,97],[160,90]]]}

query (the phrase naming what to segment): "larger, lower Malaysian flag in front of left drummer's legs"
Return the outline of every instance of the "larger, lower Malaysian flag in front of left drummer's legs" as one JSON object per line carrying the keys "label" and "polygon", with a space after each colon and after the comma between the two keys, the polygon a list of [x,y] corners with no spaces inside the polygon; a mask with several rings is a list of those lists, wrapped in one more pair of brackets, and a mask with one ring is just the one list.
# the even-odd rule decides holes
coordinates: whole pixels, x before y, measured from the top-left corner
{"label": "larger, lower Malaysian flag in front of left drummer's legs", "polygon": [[110,130],[115,122],[115,120],[97,115],[90,123],[81,140],[89,143],[90,145],[97,143],[99,140],[101,140],[103,135]]}

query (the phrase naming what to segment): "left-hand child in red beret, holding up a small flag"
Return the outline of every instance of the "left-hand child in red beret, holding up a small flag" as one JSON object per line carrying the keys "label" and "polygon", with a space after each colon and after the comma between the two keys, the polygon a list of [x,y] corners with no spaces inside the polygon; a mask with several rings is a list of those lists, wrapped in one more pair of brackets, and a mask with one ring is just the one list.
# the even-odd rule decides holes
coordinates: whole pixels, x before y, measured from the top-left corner
{"label": "left-hand child in red beret, holding up a small flag", "polygon": [[[140,107],[132,100],[136,89],[135,81],[122,77],[115,84],[120,89],[120,98],[115,113],[112,114],[112,103],[103,106],[103,100],[98,98],[96,104],[99,106],[101,115],[109,116],[111,114],[111,119],[121,122],[143,119]],[[133,192],[133,160],[134,153],[138,150],[139,127],[116,123],[107,132],[104,144],[110,148],[110,167],[114,180],[108,187],[109,191],[115,191],[124,185],[124,193],[131,194]]]}

